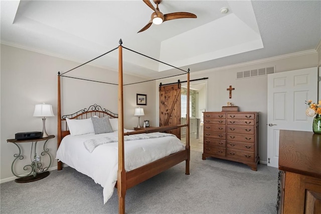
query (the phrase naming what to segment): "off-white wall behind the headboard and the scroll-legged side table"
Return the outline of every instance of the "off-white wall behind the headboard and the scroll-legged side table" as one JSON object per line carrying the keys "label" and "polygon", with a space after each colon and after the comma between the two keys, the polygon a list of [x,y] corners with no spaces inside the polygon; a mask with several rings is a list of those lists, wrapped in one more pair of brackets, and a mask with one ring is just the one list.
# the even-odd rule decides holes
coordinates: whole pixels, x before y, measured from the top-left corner
{"label": "off-white wall behind the headboard and the scroll-legged side table", "polygon": [[[1,182],[12,180],[11,165],[18,148],[7,139],[14,139],[15,133],[42,131],[41,118],[33,117],[35,104],[46,102],[53,105],[55,117],[46,119],[46,130],[56,138],[48,141],[47,147],[53,158],[52,166],[57,166],[55,155],[57,151],[57,73],[64,72],[81,63],[72,62],[32,51],[23,50],[7,45],[1,45]],[[73,71],[72,71],[73,72]],[[117,83],[118,73],[102,68],[83,66],[79,72],[70,72],[74,76],[87,77],[99,81]],[[145,80],[134,76],[124,75],[124,82],[130,79]],[[118,86],[104,83],[62,78],[62,114],[71,114],[80,109],[88,108],[97,103],[114,113],[118,113]],[[140,120],[150,120],[154,126],[155,103],[154,82],[146,82],[124,86],[124,125],[126,129],[137,126],[138,118],[134,115],[136,108],[136,93],[147,94],[145,116]],[[40,142],[37,153],[42,151]],[[25,158],[18,161],[15,169],[23,173],[22,167],[30,164],[31,143],[21,143],[22,154]]]}

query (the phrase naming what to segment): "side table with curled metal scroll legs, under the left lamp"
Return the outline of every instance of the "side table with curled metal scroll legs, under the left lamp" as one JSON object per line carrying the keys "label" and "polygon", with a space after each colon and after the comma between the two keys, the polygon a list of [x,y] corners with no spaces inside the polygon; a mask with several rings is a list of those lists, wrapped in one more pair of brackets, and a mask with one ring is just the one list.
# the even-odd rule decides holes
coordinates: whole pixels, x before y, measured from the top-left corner
{"label": "side table with curled metal scroll legs, under the left lamp", "polygon": [[[18,177],[15,181],[18,182],[18,183],[27,183],[27,182],[32,182],[32,181],[36,181],[36,180],[40,180],[40,179],[43,179],[45,177],[47,177],[50,172],[48,171],[50,165],[51,165],[51,156],[49,154],[49,149],[46,149],[46,144],[47,144],[47,141],[49,139],[52,139],[54,138],[55,136],[54,135],[50,135],[48,137],[45,137],[45,138],[35,138],[35,139],[24,139],[24,140],[17,140],[17,139],[8,139],[7,142],[8,143],[13,143],[15,144],[18,149],[19,149],[19,154],[14,154],[14,157],[15,157],[15,160],[13,161],[12,165],[11,165],[11,171],[12,173]],[[44,156],[44,155],[48,155],[49,156],[49,165],[47,167],[44,167],[42,172],[37,172],[37,168],[38,167],[42,167],[42,163],[40,162],[40,160],[38,160],[37,158],[37,152],[36,152],[36,148],[37,148],[37,142],[38,141],[45,141],[44,143],[44,147],[43,147],[43,150],[41,152],[41,155]],[[29,174],[27,175],[19,175],[15,172],[14,170],[14,165],[16,163],[16,161],[18,160],[23,160],[24,159],[24,156],[21,154],[21,148],[20,146],[18,145],[18,143],[35,143],[35,146],[34,146],[34,159],[32,160],[31,164],[27,164],[26,166],[24,166],[24,170],[25,171],[28,171],[31,169],[31,171],[29,172]],[[32,151],[31,151],[32,152]]]}

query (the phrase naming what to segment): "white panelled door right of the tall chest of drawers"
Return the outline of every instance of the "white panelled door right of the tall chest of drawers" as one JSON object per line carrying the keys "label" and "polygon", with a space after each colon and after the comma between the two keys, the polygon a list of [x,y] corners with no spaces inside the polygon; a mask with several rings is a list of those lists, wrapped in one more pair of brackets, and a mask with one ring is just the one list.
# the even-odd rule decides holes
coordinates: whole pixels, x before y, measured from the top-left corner
{"label": "white panelled door right of the tall chest of drawers", "polygon": [[305,100],[317,102],[317,68],[269,74],[267,77],[267,158],[278,167],[279,130],[312,131]]}

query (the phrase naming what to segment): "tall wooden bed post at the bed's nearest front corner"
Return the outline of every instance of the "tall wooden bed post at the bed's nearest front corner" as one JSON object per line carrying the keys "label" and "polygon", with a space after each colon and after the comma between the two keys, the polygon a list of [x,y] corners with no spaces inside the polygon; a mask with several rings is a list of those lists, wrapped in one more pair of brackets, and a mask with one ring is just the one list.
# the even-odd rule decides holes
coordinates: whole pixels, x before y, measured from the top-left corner
{"label": "tall wooden bed post at the bed's nearest front corner", "polygon": [[124,110],[123,110],[123,73],[122,73],[122,41],[118,46],[118,213],[125,213],[126,171],[124,161]]}

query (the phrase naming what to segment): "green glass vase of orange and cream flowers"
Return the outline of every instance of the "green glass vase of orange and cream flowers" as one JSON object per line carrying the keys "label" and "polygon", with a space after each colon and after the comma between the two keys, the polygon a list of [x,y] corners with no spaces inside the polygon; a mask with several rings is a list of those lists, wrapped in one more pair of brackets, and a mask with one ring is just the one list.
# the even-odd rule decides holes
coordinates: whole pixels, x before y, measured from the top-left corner
{"label": "green glass vase of orange and cream flowers", "polygon": [[318,103],[312,102],[312,100],[305,101],[309,108],[305,111],[305,115],[308,117],[314,117],[312,123],[312,130],[314,134],[321,135],[321,100]]}

